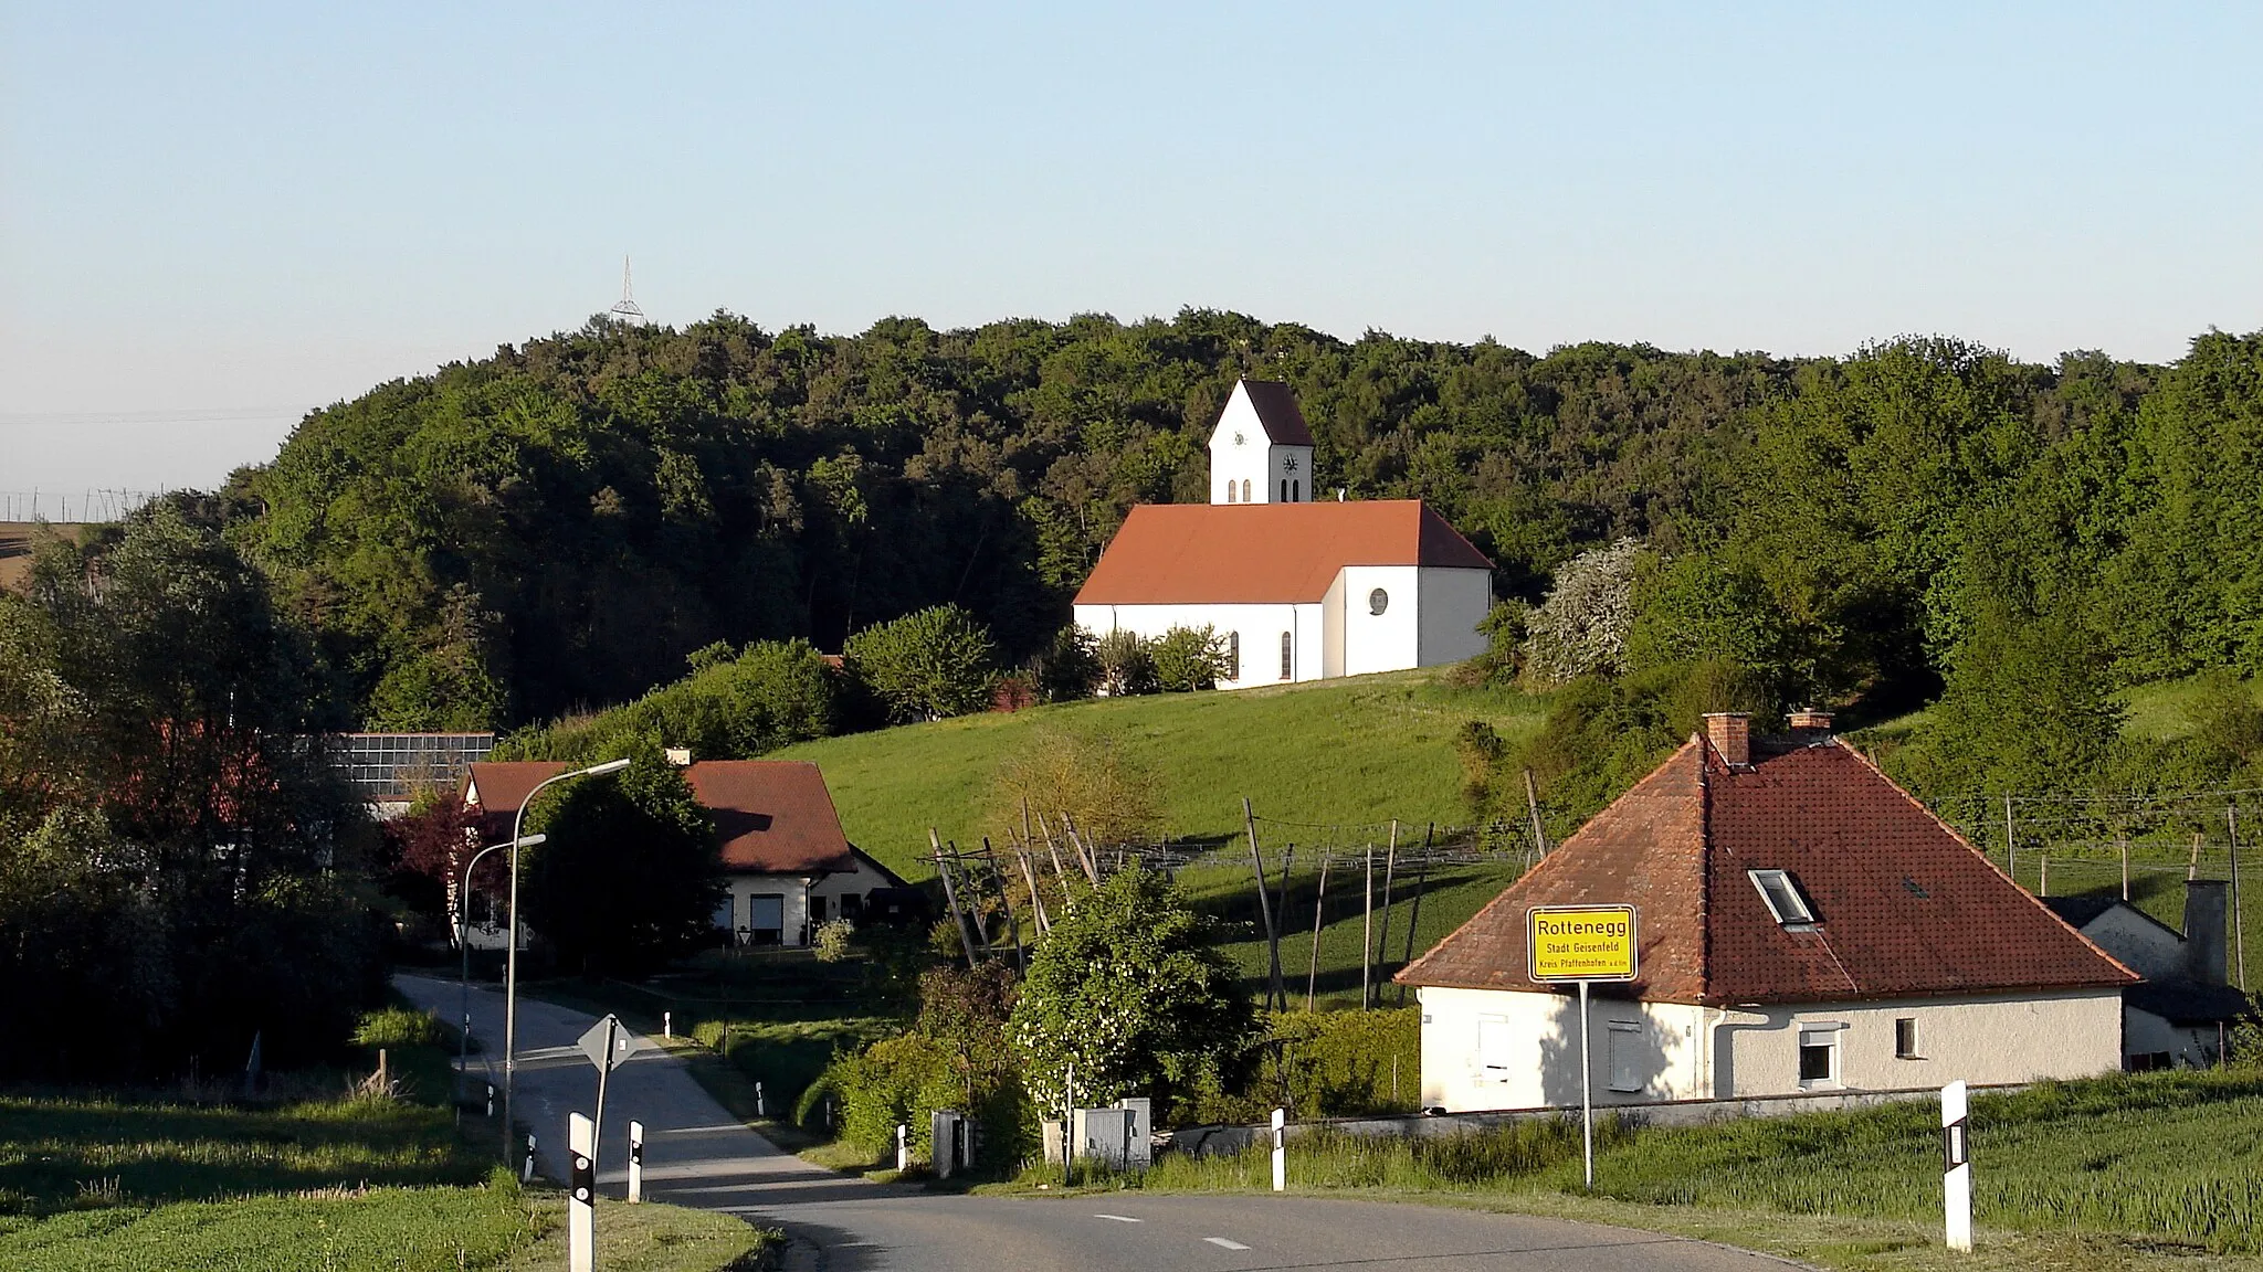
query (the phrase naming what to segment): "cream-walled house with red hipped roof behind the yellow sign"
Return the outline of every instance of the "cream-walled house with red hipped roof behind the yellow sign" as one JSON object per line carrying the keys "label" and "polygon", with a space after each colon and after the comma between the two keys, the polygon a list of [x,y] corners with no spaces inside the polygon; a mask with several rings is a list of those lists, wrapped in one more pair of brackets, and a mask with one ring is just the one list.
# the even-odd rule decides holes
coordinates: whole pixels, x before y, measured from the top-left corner
{"label": "cream-walled house with red hipped roof behind the yellow sign", "polygon": [[1593,987],[1598,1105],[1910,1091],[2120,1068],[2139,976],[1797,713],[1706,729],[1399,973],[1421,1102],[1580,1102],[1571,985],[1530,980],[1534,905],[1638,908],[1638,978]]}

